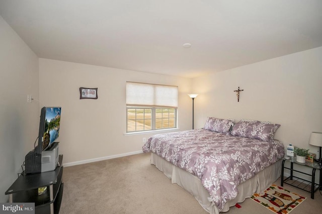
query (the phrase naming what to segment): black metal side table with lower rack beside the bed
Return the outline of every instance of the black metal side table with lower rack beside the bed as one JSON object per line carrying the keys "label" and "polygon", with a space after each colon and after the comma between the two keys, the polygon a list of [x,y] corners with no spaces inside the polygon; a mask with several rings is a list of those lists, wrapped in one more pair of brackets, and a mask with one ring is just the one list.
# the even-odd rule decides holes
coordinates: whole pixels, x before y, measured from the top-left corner
{"label": "black metal side table with lower rack beside the bed", "polygon": [[[284,164],[285,162],[290,162],[291,163],[291,168],[285,167]],[[294,169],[294,164],[295,165],[301,165],[305,167],[309,167],[312,169],[312,173],[308,174],[302,171],[298,171]],[[291,175],[287,178],[284,179],[284,169],[289,169],[291,171]],[[319,170],[319,183],[315,183],[315,171]],[[293,172],[299,172],[301,174],[309,175],[311,176],[311,180],[305,180],[303,178],[299,178],[293,175]],[[317,189],[322,190],[322,170],[321,167],[318,163],[315,162],[308,162],[306,161],[305,163],[299,163],[296,161],[296,158],[289,158],[286,159],[284,158],[282,161],[282,173],[281,173],[281,186],[283,186],[284,183],[287,183],[291,186],[295,186],[297,188],[303,189],[307,192],[311,193],[311,198],[314,199],[314,192]]]}

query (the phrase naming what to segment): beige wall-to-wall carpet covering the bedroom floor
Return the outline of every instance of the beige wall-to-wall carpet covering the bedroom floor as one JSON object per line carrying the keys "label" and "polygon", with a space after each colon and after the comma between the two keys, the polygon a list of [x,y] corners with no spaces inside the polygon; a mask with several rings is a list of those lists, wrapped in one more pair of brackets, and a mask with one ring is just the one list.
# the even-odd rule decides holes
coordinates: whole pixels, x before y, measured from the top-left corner
{"label": "beige wall-to-wall carpet covering the bedroom floor", "polygon": [[[64,168],[60,214],[88,213],[207,213],[195,198],[149,163],[150,154],[138,154]],[[280,185],[280,180],[275,182]],[[285,184],[307,199],[292,214],[320,213],[322,196]],[[263,213],[270,210],[250,198],[226,213]]]}

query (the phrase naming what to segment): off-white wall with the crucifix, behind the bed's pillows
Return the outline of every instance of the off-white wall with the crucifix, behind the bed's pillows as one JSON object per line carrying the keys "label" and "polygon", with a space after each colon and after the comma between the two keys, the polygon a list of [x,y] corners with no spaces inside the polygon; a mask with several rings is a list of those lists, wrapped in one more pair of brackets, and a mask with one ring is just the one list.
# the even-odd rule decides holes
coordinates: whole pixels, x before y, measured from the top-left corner
{"label": "off-white wall with the crucifix, behind the bed's pillows", "polygon": [[[322,47],[194,79],[195,124],[207,116],[280,124],[275,138],[309,148],[310,133],[322,132]],[[233,92],[240,86],[237,102]]]}

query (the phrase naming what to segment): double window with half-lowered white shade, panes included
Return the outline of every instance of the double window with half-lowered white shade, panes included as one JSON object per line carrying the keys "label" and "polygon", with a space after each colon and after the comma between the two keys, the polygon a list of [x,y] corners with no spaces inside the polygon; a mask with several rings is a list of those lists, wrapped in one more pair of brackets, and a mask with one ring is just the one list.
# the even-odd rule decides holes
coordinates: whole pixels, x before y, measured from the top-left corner
{"label": "double window with half-lowered white shade, panes included", "polygon": [[178,87],[126,83],[126,132],[177,128]]}

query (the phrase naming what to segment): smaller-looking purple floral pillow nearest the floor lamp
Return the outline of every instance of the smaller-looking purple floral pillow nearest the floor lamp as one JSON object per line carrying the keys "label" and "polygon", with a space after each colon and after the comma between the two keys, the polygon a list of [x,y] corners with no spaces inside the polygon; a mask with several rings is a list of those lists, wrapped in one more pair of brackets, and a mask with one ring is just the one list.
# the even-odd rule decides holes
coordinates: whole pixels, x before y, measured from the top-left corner
{"label": "smaller-looking purple floral pillow nearest the floor lamp", "polygon": [[219,119],[208,117],[204,129],[214,132],[228,133],[230,127],[232,127],[233,124],[234,121],[232,119]]}

